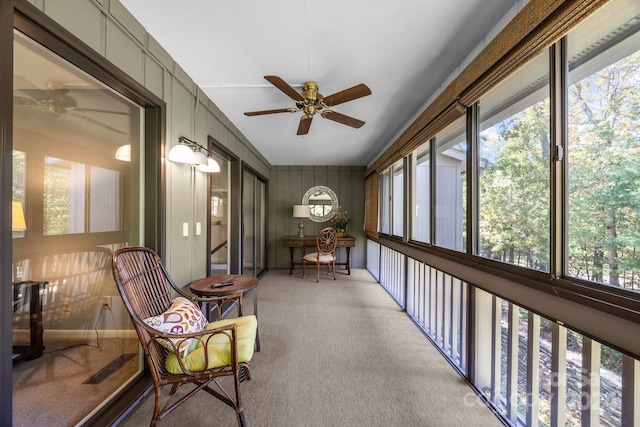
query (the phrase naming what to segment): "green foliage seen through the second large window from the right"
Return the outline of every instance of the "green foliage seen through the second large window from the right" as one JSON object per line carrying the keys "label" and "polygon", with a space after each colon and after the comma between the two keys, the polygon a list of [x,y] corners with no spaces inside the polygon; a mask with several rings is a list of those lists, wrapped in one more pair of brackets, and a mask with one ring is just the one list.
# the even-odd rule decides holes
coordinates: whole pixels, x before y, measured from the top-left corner
{"label": "green foliage seen through the second large window from the right", "polygon": [[480,177],[481,254],[543,271],[549,269],[548,111],[545,100],[509,117],[483,133],[480,148],[493,158]]}

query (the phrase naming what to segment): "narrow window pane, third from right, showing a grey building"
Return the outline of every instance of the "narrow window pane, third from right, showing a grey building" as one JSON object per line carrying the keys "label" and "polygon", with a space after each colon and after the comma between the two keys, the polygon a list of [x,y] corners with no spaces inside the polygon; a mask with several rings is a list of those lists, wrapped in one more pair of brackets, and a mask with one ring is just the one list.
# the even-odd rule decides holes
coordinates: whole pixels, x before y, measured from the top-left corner
{"label": "narrow window pane, third from right, showing a grey building", "polygon": [[464,251],[467,140],[465,119],[458,119],[436,135],[435,244]]}

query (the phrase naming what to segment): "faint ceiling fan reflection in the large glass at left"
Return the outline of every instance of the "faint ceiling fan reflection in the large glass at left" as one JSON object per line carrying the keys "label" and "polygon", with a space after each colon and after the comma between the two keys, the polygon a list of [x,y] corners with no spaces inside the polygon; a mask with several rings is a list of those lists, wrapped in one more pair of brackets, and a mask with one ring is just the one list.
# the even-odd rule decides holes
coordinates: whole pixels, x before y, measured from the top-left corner
{"label": "faint ceiling fan reflection in the large glass at left", "polygon": [[113,126],[109,126],[102,121],[93,119],[82,113],[105,113],[105,114],[118,114],[129,115],[128,112],[103,110],[98,108],[80,108],[75,98],[68,95],[69,89],[61,82],[49,80],[46,83],[46,89],[20,89],[21,92],[29,95],[25,96],[13,96],[14,105],[38,108],[41,111],[51,113],[56,116],[62,114],[70,114],[79,117],[83,120],[89,121],[98,126],[102,126],[113,132],[120,134],[126,134],[121,129],[117,129]]}

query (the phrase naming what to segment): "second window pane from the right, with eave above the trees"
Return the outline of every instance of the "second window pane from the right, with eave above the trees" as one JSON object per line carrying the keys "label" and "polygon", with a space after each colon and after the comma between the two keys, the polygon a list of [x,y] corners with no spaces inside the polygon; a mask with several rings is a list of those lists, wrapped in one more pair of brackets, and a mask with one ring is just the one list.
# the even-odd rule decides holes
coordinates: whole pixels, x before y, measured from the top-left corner
{"label": "second window pane from the right, with eave above the trees", "polygon": [[478,255],[549,271],[549,61],[480,100]]}

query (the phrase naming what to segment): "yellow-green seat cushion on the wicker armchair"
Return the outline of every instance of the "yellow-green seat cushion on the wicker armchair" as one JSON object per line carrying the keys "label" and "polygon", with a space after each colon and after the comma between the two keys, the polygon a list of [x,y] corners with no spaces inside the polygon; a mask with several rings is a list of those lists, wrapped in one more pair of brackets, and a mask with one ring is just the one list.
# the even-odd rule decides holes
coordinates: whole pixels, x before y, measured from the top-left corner
{"label": "yellow-green seat cushion on the wicker armchair", "polygon": [[[258,327],[258,320],[256,316],[242,316],[235,319],[224,319],[217,322],[211,322],[205,330],[211,330],[220,326],[229,325],[235,323],[236,327],[236,339],[238,341],[238,362],[248,362],[253,357],[254,343],[256,340],[256,330]],[[231,349],[230,338],[227,338],[224,334],[216,334],[212,336],[208,341],[209,336],[205,335],[195,350],[191,351],[187,356],[182,357],[182,363],[185,368],[192,371],[203,371],[205,369],[218,368],[231,363]],[[203,342],[208,342],[207,351],[209,355],[209,362],[205,367],[204,356],[205,348]],[[184,373],[178,363],[178,356],[175,353],[169,353],[165,360],[165,367],[167,371],[172,374]]]}

